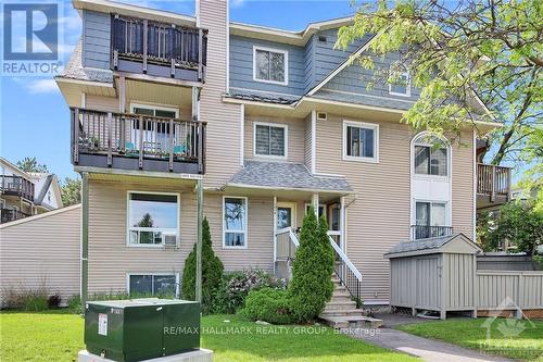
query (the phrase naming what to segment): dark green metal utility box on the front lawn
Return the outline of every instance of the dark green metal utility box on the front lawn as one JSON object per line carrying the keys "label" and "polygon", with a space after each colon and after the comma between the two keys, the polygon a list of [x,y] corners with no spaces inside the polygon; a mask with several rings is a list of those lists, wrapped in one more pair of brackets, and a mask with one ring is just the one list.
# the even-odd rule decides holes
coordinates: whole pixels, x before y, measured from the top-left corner
{"label": "dark green metal utility box on the front lawn", "polygon": [[89,301],[85,344],[90,353],[119,362],[200,348],[200,303],[171,299]]}

